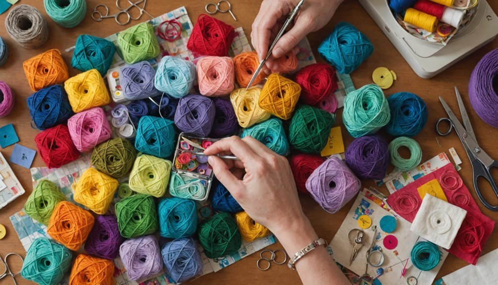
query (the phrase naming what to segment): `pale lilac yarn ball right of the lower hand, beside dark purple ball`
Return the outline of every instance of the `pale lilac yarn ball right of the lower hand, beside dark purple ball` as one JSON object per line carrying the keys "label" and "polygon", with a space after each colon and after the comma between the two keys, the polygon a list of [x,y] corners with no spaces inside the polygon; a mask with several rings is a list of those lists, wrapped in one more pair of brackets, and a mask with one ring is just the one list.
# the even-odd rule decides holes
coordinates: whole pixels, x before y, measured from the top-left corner
{"label": "pale lilac yarn ball right of the lower hand, beside dark purple ball", "polygon": [[335,156],[325,160],[306,180],[306,189],[313,199],[331,214],[353,199],[361,186],[346,163]]}

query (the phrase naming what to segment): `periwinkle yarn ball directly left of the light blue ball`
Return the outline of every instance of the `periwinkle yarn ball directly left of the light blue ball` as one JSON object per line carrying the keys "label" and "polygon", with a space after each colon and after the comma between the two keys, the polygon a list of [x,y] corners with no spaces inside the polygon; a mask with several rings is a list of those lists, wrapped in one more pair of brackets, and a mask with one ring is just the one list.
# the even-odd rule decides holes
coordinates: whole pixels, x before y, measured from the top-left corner
{"label": "periwinkle yarn ball directly left of the light blue ball", "polygon": [[140,61],[121,69],[120,82],[126,100],[154,97],[160,92],[154,87],[156,72],[148,61]]}

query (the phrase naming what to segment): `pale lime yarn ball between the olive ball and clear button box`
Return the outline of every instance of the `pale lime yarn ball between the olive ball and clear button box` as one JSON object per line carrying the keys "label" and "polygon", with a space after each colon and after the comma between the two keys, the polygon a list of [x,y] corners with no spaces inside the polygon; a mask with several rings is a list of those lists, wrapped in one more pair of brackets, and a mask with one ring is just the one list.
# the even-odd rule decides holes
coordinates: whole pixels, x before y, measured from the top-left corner
{"label": "pale lime yarn ball between the olive ball and clear button box", "polygon": [[161,197],[168,186],[171,161],[148,154],[138,155],[129,173],[129,187],[137,193]]}

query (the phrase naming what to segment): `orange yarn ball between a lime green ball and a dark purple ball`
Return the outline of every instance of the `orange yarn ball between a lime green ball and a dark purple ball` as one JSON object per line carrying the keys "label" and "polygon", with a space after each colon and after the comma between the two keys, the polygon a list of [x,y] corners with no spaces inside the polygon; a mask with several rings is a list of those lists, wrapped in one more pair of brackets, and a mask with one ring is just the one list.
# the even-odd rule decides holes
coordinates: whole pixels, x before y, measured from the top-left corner
{"label": "orange yarn ball between a lime green ball and a dark purple ball", "polygon": [[67,201],[59,202],[50,216],[47,234],[68,249],[77,251],[87,240],[94,225],[94,217]]}

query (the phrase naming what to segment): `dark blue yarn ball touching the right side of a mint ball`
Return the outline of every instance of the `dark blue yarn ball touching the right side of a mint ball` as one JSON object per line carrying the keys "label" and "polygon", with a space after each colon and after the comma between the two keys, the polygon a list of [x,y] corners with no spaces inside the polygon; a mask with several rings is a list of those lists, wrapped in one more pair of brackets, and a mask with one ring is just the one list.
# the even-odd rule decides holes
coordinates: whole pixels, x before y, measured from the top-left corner
{"label": "dark blue yarn ball touching the right side of a mint ball", "polygon": [[385,126],[393,137],[415,137],[425,128],[429,113],[422,98],[409,92],[399,92],[387,98],[391,119]]}

